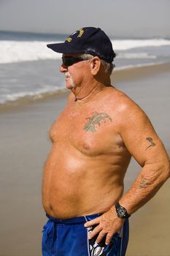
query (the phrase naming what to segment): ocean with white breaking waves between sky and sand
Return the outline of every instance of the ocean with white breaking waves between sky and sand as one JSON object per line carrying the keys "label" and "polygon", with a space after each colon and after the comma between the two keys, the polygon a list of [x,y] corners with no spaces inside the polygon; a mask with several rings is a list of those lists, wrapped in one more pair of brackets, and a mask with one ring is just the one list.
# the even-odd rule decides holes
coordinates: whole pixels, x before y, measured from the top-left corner
{"label": "ocean with white breaking waves between sky and sand", "polygon": [[[59,72],[61,54],[47,48],[47,43],[63,42],[66,37],[0,31],[0,105],[65,91]],[[110,39],[117,53],[115,69],[170,62],[170,39]]]}

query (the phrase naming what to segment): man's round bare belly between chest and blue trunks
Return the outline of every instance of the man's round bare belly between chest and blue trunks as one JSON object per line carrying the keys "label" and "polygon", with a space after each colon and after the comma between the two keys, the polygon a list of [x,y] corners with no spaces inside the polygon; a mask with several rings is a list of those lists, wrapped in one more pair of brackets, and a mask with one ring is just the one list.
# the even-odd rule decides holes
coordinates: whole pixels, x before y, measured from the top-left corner
{"label": "man's round bare belly between chest and blue trunks", "polygon": [[126,165],[107,156],[53,151],[47,159],[42,203],[47,214],[67,219],[107,211],[123,194]]}

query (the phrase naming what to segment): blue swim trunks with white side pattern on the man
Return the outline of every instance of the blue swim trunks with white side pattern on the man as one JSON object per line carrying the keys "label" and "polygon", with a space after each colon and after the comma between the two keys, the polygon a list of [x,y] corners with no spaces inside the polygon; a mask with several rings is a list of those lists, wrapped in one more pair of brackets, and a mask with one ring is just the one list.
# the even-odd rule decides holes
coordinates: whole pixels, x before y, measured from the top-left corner
{"label": "blue swim trunks with white side pattern on the man", "polygon": [[85,228],[85,222],[101,214],[93,214],[74,219],[48,217],[43,228],[42,256],[124,256],[128,245],[128,219],[119,233],[112,237],[110,244],[105,240],[96,244],[96,238],[88,240],[93,227]]}

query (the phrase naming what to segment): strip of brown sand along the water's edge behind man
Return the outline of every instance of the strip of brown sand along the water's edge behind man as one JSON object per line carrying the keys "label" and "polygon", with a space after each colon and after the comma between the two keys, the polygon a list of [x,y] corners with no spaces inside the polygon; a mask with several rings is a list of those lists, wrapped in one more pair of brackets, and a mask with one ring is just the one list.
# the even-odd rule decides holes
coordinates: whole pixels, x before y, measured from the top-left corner
{"label": "strip of brown sand along the water's edge behind man", "polygon": [[[136,67],[125,67],[125,69],[113,70],[111,75],[111,81],[114,84],[119,84],[123,81],[125,83],[131,80],[138,80],[139,78],[150,77],[154,74],[160,74],[162,72],[170,71],[170,63],[160,63],[160,64],[146,64]],[[13,110],[20,110],[20,108],[25,108],[27,105],[34,105],[39,102],[47,102],[48,100],[59,99],[61,97],[68,97],[69,90],[61,89],[58,91],[49,91],[44,94],[38,94],[34,96],[20,97],[13,101],[8,101],[0,103],[0,114],[7,113]]]}

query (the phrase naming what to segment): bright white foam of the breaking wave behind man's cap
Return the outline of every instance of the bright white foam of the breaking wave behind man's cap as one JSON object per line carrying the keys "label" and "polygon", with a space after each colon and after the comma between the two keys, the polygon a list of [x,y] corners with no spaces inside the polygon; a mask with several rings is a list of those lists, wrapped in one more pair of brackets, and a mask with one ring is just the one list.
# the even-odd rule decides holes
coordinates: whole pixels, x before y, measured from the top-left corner
{"label": "bright white foam of the breaking wave behind man's cap", "polygon": [[[45,41],[0,41],[0,64],[7,64],[21,61],[36,61],[45,59],[61,59],[60,53],[55,53],[53,50],[47,48]],[[53,42],[50,42],[53,43]],[[112,45],[117,51],[124,51],[133,48],[144,47],[158,47],[163,45],[170,45],[169,39],[119,39],[112,40]],[[147,59],[147,55],[142,53],[142,57]],[[141,57],[140,56],[140,57]],[[122,56],[119,58],[136,58],[136,56]],[[150,57],[148,57],[150,58]],[[152,58],[152,57],[151,57]],[[153,56],[154,59],[154,56]]]}

